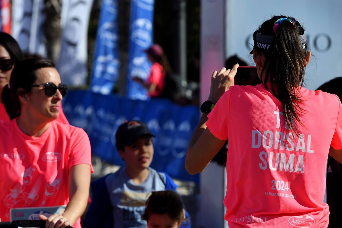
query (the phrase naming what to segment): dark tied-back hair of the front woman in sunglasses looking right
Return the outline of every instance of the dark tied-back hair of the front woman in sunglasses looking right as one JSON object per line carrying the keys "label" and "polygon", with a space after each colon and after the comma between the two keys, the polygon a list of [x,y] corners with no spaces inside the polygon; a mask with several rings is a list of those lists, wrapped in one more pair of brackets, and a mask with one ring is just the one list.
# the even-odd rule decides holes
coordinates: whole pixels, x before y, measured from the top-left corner
{"label": "dark tied-back hair of the front woman in sunglasses looking right", "polygon": [[[1,94],[2,103],[10,119],[20,116],[20,102],[18,95],[29,93],[32,85],[37,80],[36,71],[45,67],[55,67],[54,63],[45,58],[25,59],[13,68],[10,84],[6,85]],[[24,92],[18,94],[18,89],[24,89]]]}

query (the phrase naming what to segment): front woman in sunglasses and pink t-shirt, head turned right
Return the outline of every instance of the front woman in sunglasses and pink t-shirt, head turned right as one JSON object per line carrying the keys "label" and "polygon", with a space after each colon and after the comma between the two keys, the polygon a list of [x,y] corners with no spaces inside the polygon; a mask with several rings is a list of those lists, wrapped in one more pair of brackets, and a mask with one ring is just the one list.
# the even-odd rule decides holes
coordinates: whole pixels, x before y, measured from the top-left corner
{"label": "front woman in sunglasses and pink t-shirt, head turned right", "polygon": [[67,205],[63,214],[39,218],[46,227],[80,227],[90,173],[87,134],[58,118],[67,86],[53,62],[25,59],[13,69],[2,101],[11,121],[0,124],[0,218],[13,208]]}

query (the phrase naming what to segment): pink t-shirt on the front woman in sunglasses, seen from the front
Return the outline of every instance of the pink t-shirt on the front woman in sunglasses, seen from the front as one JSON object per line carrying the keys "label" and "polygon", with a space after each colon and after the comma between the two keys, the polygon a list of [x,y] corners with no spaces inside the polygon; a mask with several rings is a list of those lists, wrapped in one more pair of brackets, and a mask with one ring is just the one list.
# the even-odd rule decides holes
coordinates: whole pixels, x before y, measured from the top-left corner
{"label": "pink t-shirt on the front woman in sunglasses, seen from the front", "polygon": [[[69,169],[77,164],[91,166],[89,138],[82,129],[52,121],[40,137],[31,137],[16,119],[1,123],[1,221],[10,220],[14,207],[68,204]],[[73,227],[81,227],[80,219]]]}

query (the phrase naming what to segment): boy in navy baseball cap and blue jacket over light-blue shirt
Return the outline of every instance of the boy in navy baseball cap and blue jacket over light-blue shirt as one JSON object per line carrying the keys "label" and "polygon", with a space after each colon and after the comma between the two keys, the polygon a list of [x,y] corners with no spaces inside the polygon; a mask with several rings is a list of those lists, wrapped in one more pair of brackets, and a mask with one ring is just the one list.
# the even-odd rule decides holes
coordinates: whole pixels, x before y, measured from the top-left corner
{"label": "boy in navy baseball cap and blue jacket over light-blue shirt", "polygon": [[[116,148],[125,166],[91,184],[93,199],[83,228],[145,228],[146,221],[141,217],[151,192],[176,190],[177,185],[169,175],[149,167],[154,153],[153,137],[142,121],[126,121],[119,126]],[[182,227],[190,224],[184,223]]]}

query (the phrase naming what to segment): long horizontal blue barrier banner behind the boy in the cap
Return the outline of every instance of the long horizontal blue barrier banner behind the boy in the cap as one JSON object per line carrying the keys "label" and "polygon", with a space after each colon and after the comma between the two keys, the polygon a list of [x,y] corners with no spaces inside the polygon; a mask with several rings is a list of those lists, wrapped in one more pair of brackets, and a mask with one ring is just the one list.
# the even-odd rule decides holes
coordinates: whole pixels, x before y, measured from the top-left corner
{"label": "long horizontal blue barrier banner behind the boy in the cap", "polygon": [[124,165],[116,150],[115,134],[126,120],[142,120],[156,136],[151,167],[174,178],[198,183],[184,162],[188,144],[198,120],[198,107],[178,106],[170,100],[132,100],[116,95],[90,91],[69,91],[63,99],[63,110],[71,125],[87,132],[92,153],[118,165]]}

